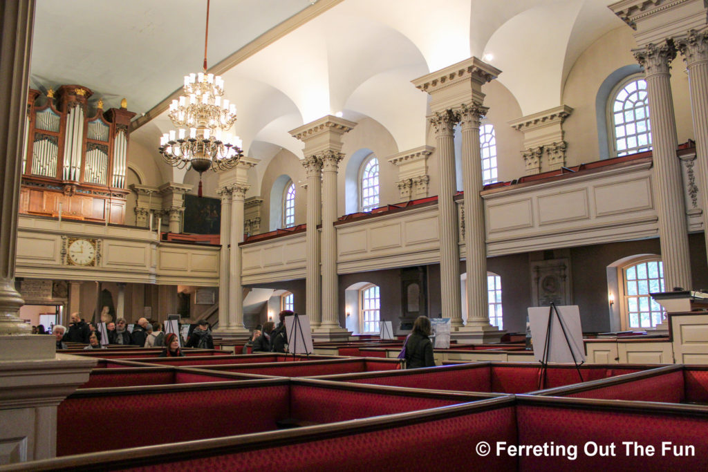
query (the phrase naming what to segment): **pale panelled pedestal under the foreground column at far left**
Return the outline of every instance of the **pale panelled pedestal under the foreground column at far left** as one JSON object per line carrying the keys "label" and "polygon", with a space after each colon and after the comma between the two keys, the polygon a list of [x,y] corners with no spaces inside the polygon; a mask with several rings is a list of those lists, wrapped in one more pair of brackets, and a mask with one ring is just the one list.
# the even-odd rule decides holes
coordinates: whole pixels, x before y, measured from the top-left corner
{"label": "pale panelled pedestal under the foreground column at far left", "polygon": [[97,360],[55,353],[50,335],[0,336],[0,465],[57,454],[57,405]]}

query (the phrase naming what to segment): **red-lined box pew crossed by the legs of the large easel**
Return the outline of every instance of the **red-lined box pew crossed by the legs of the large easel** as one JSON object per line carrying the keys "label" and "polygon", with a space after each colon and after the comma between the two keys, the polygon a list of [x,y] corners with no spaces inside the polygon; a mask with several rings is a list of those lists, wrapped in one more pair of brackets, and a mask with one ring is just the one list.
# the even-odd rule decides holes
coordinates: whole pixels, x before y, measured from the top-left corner
{"label": "red-lined box pew crossed by the legs of the large easel", "polygon": [[[653,366],[625,368],[615,364],[581,366],[584,381],[605,379],[641,369],[653,369]],[[525,393],[538,389],[539,374],[538,364],[479,362],[395,372],[365,372],[312,378],[436,390]],[[579,381],[581,380],[572,364],[554,364],[547,370],[546,385],[549,387],[576,384]]]}

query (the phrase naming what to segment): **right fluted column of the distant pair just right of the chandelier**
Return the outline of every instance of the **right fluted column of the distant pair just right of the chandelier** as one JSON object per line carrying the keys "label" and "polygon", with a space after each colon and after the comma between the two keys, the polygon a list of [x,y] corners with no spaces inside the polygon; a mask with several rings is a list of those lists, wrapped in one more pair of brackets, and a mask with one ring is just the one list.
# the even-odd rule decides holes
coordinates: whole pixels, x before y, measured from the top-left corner
{"label": "right fluted column of the distant pair just right of the chandelier", "polygon": [[244,241],[244,200],[249,185],[231,186],[231,234],[229,238],[229,329],[246,333],[244,328],[244,287],[241,286],[241,248]]}

